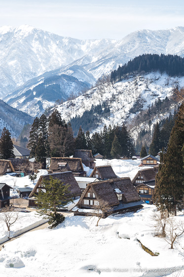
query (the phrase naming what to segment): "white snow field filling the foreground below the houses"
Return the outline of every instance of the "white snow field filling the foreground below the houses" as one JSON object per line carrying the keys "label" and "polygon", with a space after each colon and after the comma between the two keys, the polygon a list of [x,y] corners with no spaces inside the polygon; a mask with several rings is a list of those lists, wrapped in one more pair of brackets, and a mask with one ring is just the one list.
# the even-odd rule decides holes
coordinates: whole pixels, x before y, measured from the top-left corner
{"label": "white snow field filling the foreground below the houses", "polygon": [[[154,210],[145,204],[137,213],[101,219],[99,227],[96,217],[71,214],[54,230],[28,232],[5,244],[0,252],[0,273],[4,277],[165,276],[145,271],[182,268],[184,235],[169,249],[163,238],[154,236]],[[150,256],[137,239],[159,255]],[[14,268],[9,268],[10,264]]]}

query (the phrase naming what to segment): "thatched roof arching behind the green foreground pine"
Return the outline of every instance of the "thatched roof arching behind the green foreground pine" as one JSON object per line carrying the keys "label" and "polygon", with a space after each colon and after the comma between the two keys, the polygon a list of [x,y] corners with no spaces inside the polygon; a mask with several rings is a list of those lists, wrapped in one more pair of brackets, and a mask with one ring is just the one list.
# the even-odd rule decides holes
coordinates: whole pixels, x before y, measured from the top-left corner
{"label": "thatched roof arching behind the green foreground pine", "polygon": [[29,198],[32,197],[34,193],[36,193],[37,187],[41,185],[42,180],[49,180],[51,176],[54,179],[61,180],[64,183],[64,185],[67,185],[67,184],[70,185],[69,189],[73,196],[82,194],[80,187],[78,186],[76,180],[74,179],[74,175],[72,174],[71,171],[67,171],[67,172],[58,172],[58,173],[46,174],[46,175],[40,176],[33,191],[29,195]]}

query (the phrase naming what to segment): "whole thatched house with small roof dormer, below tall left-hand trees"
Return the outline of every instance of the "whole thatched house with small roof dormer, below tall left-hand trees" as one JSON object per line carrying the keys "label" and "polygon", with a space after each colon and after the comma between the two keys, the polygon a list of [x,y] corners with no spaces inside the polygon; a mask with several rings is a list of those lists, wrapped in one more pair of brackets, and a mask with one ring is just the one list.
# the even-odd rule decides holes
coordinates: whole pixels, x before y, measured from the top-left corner
{"label": "whole thatched house with small roof dormer, below tall left-hand trees", "polygon": [[53,172],[72,171],[74,176],[85,176],[80,158],[51,158],[50,170]]}

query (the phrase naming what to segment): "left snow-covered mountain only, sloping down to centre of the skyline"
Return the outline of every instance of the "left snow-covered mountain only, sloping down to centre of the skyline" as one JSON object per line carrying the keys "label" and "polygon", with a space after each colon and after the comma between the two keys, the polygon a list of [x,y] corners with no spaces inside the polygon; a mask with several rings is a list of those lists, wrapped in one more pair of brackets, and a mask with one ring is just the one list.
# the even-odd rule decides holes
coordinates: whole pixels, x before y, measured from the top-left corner
{"label": "left snow-covered mountain only, sloping down to centre of the skyline", "polygon": [[0,97],[44,72],[95,56],[112,42],[64,38],[28,25],[0,27]]}

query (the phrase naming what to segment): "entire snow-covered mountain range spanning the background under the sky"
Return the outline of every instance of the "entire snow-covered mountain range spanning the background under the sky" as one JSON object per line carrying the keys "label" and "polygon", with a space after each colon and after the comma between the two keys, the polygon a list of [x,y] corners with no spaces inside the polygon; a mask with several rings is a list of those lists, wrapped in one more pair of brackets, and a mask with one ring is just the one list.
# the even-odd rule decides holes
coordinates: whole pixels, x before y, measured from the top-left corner
{"label": "entire snow-covered mountain range spanning the background under the sky", "polygon": [[0,28],[0,97],[50,70],[94,84],[143,53],[184,56],[184,27],[136,31],[122,40],[64,38],[28,25]]}

